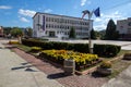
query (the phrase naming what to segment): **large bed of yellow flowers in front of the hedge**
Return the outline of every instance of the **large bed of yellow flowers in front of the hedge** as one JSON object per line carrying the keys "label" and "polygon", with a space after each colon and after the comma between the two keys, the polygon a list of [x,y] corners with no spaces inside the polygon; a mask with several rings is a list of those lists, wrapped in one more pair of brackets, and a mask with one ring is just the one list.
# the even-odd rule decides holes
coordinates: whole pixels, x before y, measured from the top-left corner
{"label": "large bed of yellow flowers in front of the hedge", "polygon": [[75,61],[75,70],[82,71],[99,63],[97,54],[80,53],[67,50],[44,50],[39,54],[41,59],[48,59],[59,64],[63,64],[64,59],[73,59]]}

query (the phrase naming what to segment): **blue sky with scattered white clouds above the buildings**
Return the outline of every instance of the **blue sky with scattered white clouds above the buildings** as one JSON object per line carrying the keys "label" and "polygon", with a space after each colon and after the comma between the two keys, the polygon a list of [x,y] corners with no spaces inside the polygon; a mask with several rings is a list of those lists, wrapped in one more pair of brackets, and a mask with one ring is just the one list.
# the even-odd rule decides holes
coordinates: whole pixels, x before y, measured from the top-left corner
{"label": "blue sky with scattered white clouds above the buildings", "polygon": [[96,30],[106,29],[110,18],[117,23],[131,17],[131,0],[0,0],[0,26],[33,27],[36,12],[82,17],[82,11],[98,7],[100,17],[92,16]]}

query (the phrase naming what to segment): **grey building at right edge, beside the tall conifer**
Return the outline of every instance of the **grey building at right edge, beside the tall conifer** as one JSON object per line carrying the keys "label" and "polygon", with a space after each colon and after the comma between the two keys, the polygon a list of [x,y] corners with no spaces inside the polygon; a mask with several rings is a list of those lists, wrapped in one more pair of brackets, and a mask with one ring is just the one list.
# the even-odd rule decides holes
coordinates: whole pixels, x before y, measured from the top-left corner
{"label": "grey building at right edge, beside the tall conifer", "polygon": [[117,21],[117,30],[121,39],[131,39],[131,17]]}

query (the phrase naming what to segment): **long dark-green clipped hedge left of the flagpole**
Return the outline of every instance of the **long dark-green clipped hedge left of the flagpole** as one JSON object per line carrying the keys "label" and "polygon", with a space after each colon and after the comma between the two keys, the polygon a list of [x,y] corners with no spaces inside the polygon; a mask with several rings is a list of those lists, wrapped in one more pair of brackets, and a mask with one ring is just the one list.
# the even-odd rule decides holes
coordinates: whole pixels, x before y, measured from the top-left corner
{"label": "long dark-green clipped hedge left of the flagpole", "polygon": [[22,44],[29,47],[41,47],[45,50],[73,50],[78,52],[88,52],[88,44],[68,44],[68,42],[55,42],[55,41],[39,41],[33,39],[22,39]]}

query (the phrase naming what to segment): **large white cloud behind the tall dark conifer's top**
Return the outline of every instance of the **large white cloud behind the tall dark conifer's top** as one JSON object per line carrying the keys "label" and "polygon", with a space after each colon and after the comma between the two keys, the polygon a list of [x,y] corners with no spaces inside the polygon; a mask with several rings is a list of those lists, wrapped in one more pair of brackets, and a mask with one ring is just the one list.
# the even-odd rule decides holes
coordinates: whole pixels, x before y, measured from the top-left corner
{"label": "large white cloud behind the tall dark conifer's top", "polygon": [[124,20],[126,17],[119,11],[103,14],[100,17],[95,17],[94,20],[94,28],[95,29],[106,29],[108,21],[112,18],[114,22],[117,24],[117,20]]}

